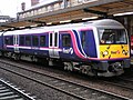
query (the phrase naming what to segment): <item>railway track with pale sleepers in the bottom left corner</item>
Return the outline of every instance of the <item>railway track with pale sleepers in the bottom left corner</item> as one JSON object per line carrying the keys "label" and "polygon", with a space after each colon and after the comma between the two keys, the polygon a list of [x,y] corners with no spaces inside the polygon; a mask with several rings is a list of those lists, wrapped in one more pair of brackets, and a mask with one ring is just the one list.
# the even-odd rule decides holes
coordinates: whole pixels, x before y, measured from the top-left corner
{"label": "railway track with pale sleepers in the bottom left corner", "polygon": [[35,98],[0,79],[0,100],[35,100]]}

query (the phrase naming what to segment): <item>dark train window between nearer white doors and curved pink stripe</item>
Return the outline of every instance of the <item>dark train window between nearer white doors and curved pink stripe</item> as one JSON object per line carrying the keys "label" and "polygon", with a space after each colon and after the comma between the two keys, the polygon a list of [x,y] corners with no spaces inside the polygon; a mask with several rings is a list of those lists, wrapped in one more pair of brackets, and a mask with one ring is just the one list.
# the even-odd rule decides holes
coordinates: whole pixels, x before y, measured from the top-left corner
{"label": "dark train window between nearer white doors and curved pink stripe", "polygon": [[62,47],[71,47],[71,36],[69,33],[62,36]]}

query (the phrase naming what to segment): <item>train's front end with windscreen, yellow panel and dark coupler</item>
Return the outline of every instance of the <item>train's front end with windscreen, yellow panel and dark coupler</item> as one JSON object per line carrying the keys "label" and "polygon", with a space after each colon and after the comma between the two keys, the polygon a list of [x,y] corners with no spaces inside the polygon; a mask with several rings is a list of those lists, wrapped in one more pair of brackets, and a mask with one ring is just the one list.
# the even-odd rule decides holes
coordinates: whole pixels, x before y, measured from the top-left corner
{"label": "train's front end with windscreen, yellow panel and dark coupler", "polygon": [[120,76],[124,68],[130,68],[130,44],[125,29],[98,29],[99,33],[99,70],[98,76]]}

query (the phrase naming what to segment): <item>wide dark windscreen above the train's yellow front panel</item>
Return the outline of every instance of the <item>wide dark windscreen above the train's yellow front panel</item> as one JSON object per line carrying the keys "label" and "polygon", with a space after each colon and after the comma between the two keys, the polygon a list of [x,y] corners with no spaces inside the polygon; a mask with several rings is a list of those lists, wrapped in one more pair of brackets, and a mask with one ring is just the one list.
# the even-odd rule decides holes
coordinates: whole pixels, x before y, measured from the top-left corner
{"label": "wide dark windscreen above the train's yellow front panel", "polygon": [[127,34],[124,29],[99,29],[101,44],[125,44]]}

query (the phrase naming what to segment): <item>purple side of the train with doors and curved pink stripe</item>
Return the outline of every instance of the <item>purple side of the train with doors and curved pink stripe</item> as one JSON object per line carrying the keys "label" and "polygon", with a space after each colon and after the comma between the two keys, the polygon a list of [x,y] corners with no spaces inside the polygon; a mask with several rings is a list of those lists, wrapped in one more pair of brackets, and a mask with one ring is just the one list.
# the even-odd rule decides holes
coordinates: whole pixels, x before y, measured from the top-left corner
{"label": "purple side of the train with doors and curved pink stripe", "polygon": [[35,31],[23,33],[20,30],[13,31],[13,34],[12,31],[4,33],[2,37],[3,50],[69,61],[88,61],[88,57],[98,58],[93,29],[43,31],[38,33]]}

